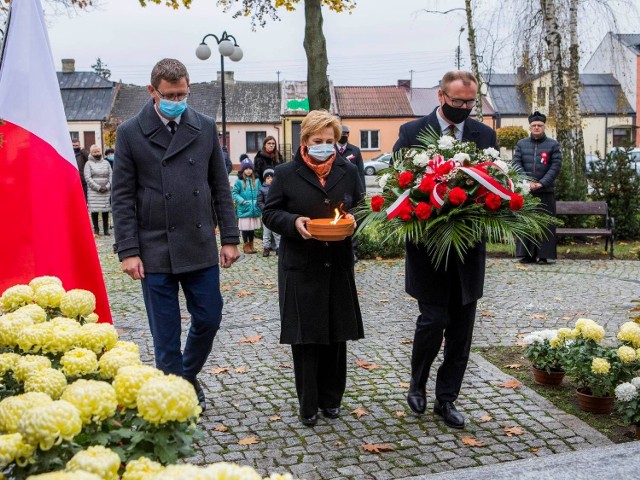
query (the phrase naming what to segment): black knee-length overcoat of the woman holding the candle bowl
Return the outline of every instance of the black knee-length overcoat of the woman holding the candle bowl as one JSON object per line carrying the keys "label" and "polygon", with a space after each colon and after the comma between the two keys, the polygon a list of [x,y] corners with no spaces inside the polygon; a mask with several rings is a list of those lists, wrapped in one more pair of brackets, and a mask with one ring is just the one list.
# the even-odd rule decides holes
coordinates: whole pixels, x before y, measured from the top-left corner
{"label": "black knee-length overcoat of the woman holding the candle bowl", "polygon": [[351,238],[338,242],[304,240],[298,217],[329,218],[334,208],[352,209],[363,198],[355,165],[337,156],[323,187],[300,153],[276,167],[262,215],[282,235],[278,292],[280,343],[329,344],[364,336],[356,290]]}

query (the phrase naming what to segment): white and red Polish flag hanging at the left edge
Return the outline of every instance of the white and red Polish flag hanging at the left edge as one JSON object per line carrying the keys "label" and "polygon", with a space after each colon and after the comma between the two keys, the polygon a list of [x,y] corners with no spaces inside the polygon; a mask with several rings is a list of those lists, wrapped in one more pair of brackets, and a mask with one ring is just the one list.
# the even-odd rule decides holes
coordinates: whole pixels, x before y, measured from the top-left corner
{"label": "white and red Polish flag hanging at the left edge", "polygon": [[13,0],[0,57],[0,293],[41,275],[111,322],[40,0]]}

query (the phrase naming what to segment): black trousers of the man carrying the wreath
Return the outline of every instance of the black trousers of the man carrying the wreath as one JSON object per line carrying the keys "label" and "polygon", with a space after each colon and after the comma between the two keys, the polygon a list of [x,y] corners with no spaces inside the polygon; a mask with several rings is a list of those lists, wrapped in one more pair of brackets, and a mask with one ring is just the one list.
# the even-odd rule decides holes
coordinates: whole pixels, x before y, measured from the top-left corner
{"label": "black trousers of the man carrying the wreath", "polygon": [[420,315],[411,354],[412,389],[424,392],[431,364],[444,338],[444,360],[436,377],[436,398],[440,402],[456,401],[469,361],[476,304],[462,305],[460,295],[451,295],[448,305],[418,301]]}

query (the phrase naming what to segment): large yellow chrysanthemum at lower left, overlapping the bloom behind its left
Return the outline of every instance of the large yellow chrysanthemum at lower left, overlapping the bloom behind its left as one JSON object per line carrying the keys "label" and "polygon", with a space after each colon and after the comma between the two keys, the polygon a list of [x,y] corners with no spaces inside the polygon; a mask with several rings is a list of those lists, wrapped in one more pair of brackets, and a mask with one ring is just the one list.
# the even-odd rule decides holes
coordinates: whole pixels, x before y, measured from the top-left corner
{"label": "large yellow chrysanthemum at lower left, overlapping the bloom behind its left", "polygon": [[73,440],[82,430],[78,409],[64,400],[24,412],[18,422],[18,433],[25,442],[50,450],[63,440]]}

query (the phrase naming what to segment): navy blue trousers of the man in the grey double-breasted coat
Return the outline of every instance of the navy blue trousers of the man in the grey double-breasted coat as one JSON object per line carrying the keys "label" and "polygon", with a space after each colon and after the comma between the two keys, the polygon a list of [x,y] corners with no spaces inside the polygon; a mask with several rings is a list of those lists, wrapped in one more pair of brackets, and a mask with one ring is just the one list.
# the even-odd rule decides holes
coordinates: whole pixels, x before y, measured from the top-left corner
{"label": "navy blue trousers of the man in the grey double-breasted coat", "polygon": [[[179,286],[182,286],[191,314],[184,353],[180,351]],[[142,279],[142,293],[153,336],[156,367],[164,373],[195,378],[211,353],[213,339],[220,327],[220,268],[215,265],[180,274],[146,273]]]}

